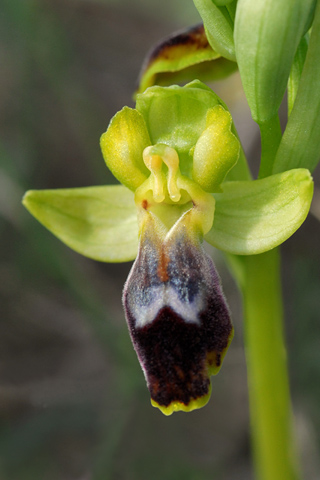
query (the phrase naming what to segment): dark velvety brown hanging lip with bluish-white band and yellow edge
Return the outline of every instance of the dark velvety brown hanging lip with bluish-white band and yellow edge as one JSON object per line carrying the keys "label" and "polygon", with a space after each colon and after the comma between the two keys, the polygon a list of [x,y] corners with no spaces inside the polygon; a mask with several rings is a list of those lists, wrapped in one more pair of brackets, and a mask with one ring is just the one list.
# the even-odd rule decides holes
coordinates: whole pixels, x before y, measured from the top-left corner
{"label": "dark velvety brown hanging lip with bluish-white band and yellow edge", "polygon": [[152,403],[170,414],[206,403],[233,328],[215,266],[197,236],[178,222],[163,239],[147,215],[123,303]]}

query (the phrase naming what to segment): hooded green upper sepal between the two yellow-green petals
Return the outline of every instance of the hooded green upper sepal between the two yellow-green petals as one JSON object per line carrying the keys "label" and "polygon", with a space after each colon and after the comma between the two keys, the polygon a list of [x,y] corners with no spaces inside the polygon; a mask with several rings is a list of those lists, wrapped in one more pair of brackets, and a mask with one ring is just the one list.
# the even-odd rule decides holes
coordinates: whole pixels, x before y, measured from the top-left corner
{"label": "hooded green upper sepal between the two yellow-green petals", "polygon": [[190,175],[193,148],[206,128],[207,111],[220,103],[209,87],[194,80],[184,87],[150,87],[137,95],[136,108],[148,126],[151,143],[174,148],[181,172]]}

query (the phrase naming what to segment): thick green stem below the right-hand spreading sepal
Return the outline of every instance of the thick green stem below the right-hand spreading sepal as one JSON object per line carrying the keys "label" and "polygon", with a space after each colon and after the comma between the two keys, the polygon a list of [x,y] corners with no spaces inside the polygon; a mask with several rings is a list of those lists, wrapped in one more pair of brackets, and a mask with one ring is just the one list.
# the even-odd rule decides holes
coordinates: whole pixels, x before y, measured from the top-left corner
{"label": "thick green stem below the right-hand spreading sepal", "polygon": [[253,452],[259,480],[297,480],[279,251],[248,256],[242,282]]}

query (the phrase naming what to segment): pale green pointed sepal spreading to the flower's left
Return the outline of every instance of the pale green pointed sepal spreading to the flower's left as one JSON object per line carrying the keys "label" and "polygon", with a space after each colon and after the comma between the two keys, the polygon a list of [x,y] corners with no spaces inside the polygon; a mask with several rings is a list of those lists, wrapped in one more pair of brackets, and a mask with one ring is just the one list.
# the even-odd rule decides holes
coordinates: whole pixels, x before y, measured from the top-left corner
{"label": "pale green pointed sepal spreading to the flower's left", "polygon": [[56,237],[101,262],[126,262],[138,250],[133,194],[122,185],[30,190],[23,205]]}

